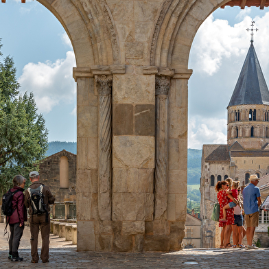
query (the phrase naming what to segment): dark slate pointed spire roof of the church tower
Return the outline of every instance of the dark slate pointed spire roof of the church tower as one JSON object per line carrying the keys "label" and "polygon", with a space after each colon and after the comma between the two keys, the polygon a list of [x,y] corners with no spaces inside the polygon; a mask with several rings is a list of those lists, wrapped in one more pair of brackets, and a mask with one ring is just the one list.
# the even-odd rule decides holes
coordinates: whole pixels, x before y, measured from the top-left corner
{"label": "dark slate pointed spire roof of the church tower", "polygon": [[[250,44],[229,106],[268,104],[269,91],[253,43]],[[228,107],[229,107],[228,106]]]}

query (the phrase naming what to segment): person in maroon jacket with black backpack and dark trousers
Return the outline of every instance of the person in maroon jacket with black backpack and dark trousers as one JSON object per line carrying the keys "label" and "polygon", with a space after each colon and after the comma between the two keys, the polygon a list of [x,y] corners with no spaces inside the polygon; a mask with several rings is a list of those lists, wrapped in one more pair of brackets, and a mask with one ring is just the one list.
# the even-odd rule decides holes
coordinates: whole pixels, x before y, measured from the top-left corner
{"label": "person in maroon jacket with black backpack and dark trousers", "polygon": [[[24,186],[26,180],[17,175],[13,178],[13,188],[3,195],[2,211],[7,216],[7,225],[10,225],[10,239],[8,240],[11,261],[22,261],[19,257],[19,244],[23,236],[24,222],[27,221],[27,211],[24,205]],[[5,226],[6,229],[7,226]]]}

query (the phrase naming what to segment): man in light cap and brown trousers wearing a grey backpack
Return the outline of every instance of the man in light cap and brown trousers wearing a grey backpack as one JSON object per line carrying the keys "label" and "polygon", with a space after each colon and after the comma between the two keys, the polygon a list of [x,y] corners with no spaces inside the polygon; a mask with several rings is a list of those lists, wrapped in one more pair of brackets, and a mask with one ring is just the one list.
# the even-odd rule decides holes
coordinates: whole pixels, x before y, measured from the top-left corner
{"label": "man in light cap and brown trousers wearing a grey backpack", "polygon": [[29,208],[30,231],[31,231],[31,255],[32,262],[37,263],[38,256],[38,233],[41,231],[42,248],[40,259],[49,262],[49,204],[54,204],[54,196],[49,187],[39,182],[39,174],[36,171],[30,172],[32,185],[25,191],[25,206]]}

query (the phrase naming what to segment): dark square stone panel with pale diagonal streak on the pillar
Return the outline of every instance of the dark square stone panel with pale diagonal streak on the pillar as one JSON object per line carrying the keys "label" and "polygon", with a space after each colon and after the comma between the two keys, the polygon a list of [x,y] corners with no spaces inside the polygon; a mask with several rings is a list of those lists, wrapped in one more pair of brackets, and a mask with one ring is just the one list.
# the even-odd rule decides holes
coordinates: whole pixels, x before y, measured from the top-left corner
{"label": "dark square stone panel with pale diagonal streak on the pillar", "polygon": [[154,136],[155,106],[152,104],[137,104],[134,107],[134,134]]}

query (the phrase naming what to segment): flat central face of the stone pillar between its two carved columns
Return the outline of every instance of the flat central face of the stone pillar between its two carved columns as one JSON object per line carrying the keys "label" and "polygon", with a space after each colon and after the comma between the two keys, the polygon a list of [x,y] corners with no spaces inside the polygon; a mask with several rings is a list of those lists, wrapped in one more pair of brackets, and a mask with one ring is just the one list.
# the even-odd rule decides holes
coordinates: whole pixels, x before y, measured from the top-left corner
{"label": "flat central face of the stone pillar between its two carved columns", "polygon": [[155,73],[126,65],[113,75],[113,251],[145,250],[153,220]]}

